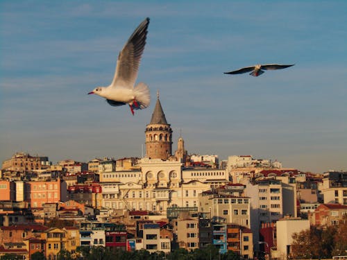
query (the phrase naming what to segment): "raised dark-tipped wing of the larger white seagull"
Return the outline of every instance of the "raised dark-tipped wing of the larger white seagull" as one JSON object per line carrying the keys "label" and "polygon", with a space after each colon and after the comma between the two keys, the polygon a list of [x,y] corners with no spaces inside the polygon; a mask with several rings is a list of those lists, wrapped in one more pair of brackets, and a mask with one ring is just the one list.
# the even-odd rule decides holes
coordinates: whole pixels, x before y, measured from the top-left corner
{"label": "raised dark-tipped wing of the larger white seagull", "polygon": [[146,44],[148,26],[149,18],[147,17],[139,24],[119,52],[115,78],[113,78],[111,83],[112,87],[122,86],[131,89],[134,87],[139,63],[144,52],[144,45]]}

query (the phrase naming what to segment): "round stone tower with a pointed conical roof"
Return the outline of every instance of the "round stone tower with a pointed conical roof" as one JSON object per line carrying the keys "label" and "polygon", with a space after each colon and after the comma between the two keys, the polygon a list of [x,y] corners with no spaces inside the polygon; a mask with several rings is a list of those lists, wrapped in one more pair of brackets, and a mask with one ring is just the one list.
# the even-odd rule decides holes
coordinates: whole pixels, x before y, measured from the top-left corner
{"label": "round stone tower with a pointed conical roof", "polygon": [[162,111],[159,92],[157,92],[157,103],[155,103],[151,123],[146,125],[145,134],[147,157],[166,160],[171,156],[172,130]]}

